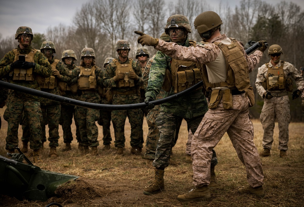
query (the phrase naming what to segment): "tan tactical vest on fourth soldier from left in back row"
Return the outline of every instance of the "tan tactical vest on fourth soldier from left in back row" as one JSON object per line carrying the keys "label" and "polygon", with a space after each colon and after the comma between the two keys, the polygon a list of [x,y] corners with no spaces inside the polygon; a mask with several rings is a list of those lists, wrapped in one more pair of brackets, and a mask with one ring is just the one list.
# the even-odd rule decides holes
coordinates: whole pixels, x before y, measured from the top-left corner
{"label": "tan tactical vest on fourth soldier from left in back row", "polygon": [[92,68],[80,67],[80,73],[78,76],[78,89],[80,90],[95,90],[97,86],[95,69],[97,67],[93,66]]}

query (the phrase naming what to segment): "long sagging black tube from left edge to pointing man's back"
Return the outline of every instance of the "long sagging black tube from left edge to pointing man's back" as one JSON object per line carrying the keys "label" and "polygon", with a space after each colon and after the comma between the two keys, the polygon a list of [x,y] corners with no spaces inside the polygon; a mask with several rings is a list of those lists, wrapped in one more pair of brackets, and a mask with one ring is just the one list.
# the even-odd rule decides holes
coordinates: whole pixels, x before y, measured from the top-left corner
{"label": "long sagging black tube from left edge to pointing man's back", "polygon": [[[175,93],[174,95],[171,95],[171,96],[168,96],[168,97],[165,97],[162,99],[150,101],[149,103],[153,103],[154,105],[159,105],[161,103],[168,102],[183,94],[190,93],[191,91],[201,87],[202,85],[203,85],[203,82],[200,81],[199,83],[196,83],[194,86],[187,88],[186,90],[183,90],[181,92]],[[99,109],[99,110],[129,110],[129,109],[140,109],[140,108],[144,108],[144,107],[148,106],[148,104],[146,104],[146,103],[134,103],[134,104],[126,104],[126,105],[109,105],[109,104],[89,103],[89,102],[85,102],[85,101],[79,101],[79,100],[75,100],[75,99],[71,99],[71,98],[67,98],[67,97],[58,96],[58,95],[55,95],[52,93],[47,93],[47,92],[40,91],[40,90],[35,90],[32,88],[27,88],[24,86],[19,86],[19,85],[16,85],[13,83],[8,83],[8,82],[1,81],[1,80],[0,80],[0,86],[11,89],[11,90],[20,91],[23,93],[28,93],[28,94],[31,94],[34,96],[39,96],[39,97],[55,100],[55,101],[58,101],[61,103],[67,103],[67,104],[71,104],[71,105],[75,105],[75,106],[81,106],[81,107],[87,107],[87,108]]]}

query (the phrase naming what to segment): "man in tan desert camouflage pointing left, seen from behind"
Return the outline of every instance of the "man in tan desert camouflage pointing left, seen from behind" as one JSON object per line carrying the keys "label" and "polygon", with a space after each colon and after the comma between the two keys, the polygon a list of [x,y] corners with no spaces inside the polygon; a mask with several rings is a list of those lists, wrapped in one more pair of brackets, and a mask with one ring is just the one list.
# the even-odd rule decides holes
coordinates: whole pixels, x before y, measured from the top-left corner
{"label": "man in tan desert camouflage pointing left, seen from behind", "polygon": [[[238,157],[246,167],[247,181],[250,185],[239,188],[238,192],[252,193],[257,197],[264,196],[264,174],[253,142],[253,125],[249,119],[248,107],[253,104],[254,93],[249,85],[248,73],[261,59],[266,49],[266,41],[260,41],[261,47],[248,56],[240,42],[227,38],[225,34],[220,34],[221,24],[223,24],[222,20],[215,12],[208,11],[198,15],[194,21],[195,28],[208,43],[195,47],[179,46],[174,42],[164,42],[142,32],[136,32],[141,35],[138,42],[142,45],[155,46],[155,49],[172,58],[199,64],[204,84],[212,89],[209,110],[192,139],[191,156],[195,189],[179,195],[177,198],[179,201],[210,200],[208,185],[211,149],[216,146],[225,132],[228,133]],[[235,60],[235,57],[240,57],[240,61],[234,65],[230,58]]]}

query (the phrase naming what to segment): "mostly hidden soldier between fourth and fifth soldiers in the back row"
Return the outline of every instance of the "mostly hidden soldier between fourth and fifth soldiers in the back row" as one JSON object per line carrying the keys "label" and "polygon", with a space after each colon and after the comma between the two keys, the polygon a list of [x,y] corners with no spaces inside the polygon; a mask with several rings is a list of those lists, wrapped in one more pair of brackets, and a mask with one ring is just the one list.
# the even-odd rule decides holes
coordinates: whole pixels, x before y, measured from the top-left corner
{"label": "mostly hidden soldier between fourth and fifth soldiers in the back row", "polygon": [[[109,63],[112,62],[114,58],[112,57],[107,57],[105,59],[105,62],[103,63],[103,68],[101,69],[103,71],[103,74],[105,74],[105,69],[108,66]],[[107,100],[105,94],[106,92],[110,90],[110,88],[104,88],[101,97],[101,104],[112,104],[112,101]],[[100,118],[98,120],[98,124],[102,126],[102,141],[104,145],[105,150],[109,150],[111,148],[111,131],[110,131],[110,126],[111,126],[111,110],[100,110]]]}

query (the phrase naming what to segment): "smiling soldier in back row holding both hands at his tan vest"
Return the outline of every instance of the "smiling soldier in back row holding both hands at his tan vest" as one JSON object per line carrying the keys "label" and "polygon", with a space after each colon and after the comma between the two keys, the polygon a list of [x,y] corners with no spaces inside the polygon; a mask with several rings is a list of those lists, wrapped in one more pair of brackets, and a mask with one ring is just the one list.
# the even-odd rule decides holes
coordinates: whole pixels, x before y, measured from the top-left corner
{"label": "smiling soldier in back row holding both hands at his tan vest", "polygon": [[[105,85],[113,91],[112,103],[140,103],[139,86],[142,84],[142,73],[136,62],[128,58],[130,43],[127,40],[117,41],[115,51],[117,51],[119,57],[109,63],[104,76]],[[118,67],[121,69],[117,70]],[[126,72],[126,70],[129,72]],[[141,109],[113,110],[111,116],[115,133],[114,143],[117,148],[116,153],[123,154],[126,141],[124,126],[126,117],[128,117],[131,125],[131,153],[140,154],[143,147],[141,143],[143,139],[143,112]]]}

